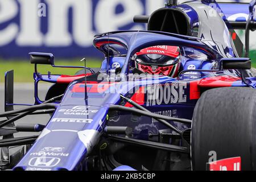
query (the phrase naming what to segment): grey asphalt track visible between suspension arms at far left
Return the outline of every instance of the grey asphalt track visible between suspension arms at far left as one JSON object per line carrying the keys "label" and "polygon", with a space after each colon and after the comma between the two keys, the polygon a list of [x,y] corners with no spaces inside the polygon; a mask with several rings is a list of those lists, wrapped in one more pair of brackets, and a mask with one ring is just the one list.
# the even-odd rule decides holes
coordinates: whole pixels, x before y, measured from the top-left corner
{"label": "grey asphalt track visible between suspension arms at far left", "polygon": [[[51,84],[39,85],[39,98],[43,100],[46,96],[47,90]],[[4,110],[5,102],[5,86],[0,84],[0,112]],[[14,84],[14,103],[15,104],[34,104],[34,84],[32,83],[18,83]],[[19,109],[27,106],[14,106],[14,109]],[[40,115],[27,115],[24,118],[19,119],[15,123],[38,123],[46,125],[49,121],[49,114]],[[2,120],[3,118],[1,118]],[[23,137],[28,135],[35,135],[36,133],[16,133],[15,137]]]}

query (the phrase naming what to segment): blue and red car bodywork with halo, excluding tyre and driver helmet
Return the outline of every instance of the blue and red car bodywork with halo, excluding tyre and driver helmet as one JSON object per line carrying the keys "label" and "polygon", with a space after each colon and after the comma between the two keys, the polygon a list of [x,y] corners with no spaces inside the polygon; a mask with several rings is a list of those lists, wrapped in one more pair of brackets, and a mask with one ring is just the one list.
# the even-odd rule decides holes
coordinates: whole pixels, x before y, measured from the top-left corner
{"label": "blue and red car bodywork with halo, excluding tyre and driver helmet", "polygon": [[[86,75],[64,76],[35,71],[35,105],[45,105],[37,93],[40,81],[64,84],[64,94],[51,105],[51,119],[14,170],[111,170],[122,165],[162,170],[162,164],[148,159],[162,160],[168,152],[185,158],[179,169],[189,168],[191,119],[201,94],[220,87],[255,88],[256,80],[242,75],[250,60],[239,58],[225,22],[221,16],[209,16],[208,5],[184,3],[167,9],[186,17],[179,19],[187,23],[185,29],[158,30],[151,17],[151,31],[96,35],[93,44],[105,55],[99,72],[88,68],[91,73]],[[134,69],[133,55],[158,45],[180,47],[178,77],[138,74]],[[54,65],[51,54],[30,55],[35,65]],[[113,66],[117,64],[118,71]]]}

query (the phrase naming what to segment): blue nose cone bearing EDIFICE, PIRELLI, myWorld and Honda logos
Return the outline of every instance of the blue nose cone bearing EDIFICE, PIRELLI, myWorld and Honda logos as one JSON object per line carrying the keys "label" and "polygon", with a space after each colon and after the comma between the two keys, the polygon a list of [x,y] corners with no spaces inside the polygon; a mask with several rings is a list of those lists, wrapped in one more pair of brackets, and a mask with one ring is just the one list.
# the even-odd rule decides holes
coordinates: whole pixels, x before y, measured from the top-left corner
{"label": "blue nose cone bearing EDIFICE, PIRELLI, myWorld and Honda logos", "polygon": [[100,139],[107,110],[98,106],[60,106],[14,170],[82,169]]}

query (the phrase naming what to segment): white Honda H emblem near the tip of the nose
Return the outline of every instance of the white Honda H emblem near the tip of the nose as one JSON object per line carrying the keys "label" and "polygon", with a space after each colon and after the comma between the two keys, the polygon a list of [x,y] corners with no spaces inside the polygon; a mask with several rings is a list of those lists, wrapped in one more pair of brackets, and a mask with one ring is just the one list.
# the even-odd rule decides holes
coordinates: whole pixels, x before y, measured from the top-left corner
{"label": "white Honda H emblem near the tip of the nose", "polygon": [[31,158],[28,165],[35,167],[53,167],[59,164],[59,162],[60,158],[36,157]]}

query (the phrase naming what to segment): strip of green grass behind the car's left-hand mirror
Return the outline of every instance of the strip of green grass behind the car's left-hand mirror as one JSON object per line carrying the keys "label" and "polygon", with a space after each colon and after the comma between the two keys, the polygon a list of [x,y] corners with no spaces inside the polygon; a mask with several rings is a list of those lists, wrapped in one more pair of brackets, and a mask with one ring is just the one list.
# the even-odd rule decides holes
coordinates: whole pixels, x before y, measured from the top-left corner
{"label": "strip of green grass behind the car's left-hand mirror", "polygon": [[[55,65],[74,65],[84,66],[84,62],[80,59],[73,60],[55,60]],[[97,59],[87,59],[86,66],[91,68],[99,68],[101,61]],[[14,70],[14,82],[32,82],[34,73],[34,64],[30,64],[29,60],[0,60],[0,82],[5,80],[5,72]],[[80,69],[77,68],[53,68],[51,65],[38,65],[38,72],[47,74],[48,71],[56,75],[75,75]]]}

